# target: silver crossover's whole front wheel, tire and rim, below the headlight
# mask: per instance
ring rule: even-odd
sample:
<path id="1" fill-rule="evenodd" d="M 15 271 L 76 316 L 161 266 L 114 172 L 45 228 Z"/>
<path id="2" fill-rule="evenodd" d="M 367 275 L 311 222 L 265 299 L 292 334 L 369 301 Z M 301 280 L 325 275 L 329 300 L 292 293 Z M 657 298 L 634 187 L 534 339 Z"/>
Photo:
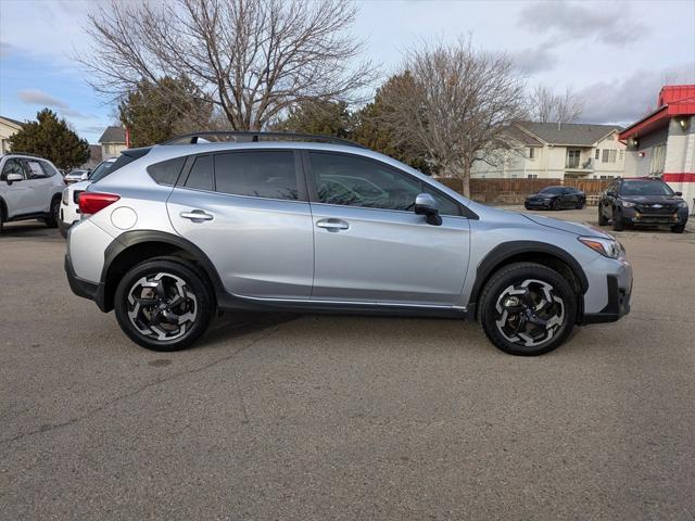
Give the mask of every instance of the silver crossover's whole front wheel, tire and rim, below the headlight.
<path id="1" fill-rule="evenodd" d="M 577 295 L 565 277 L 534 263 L 503 267 L 485 284 L 480 322 L 510 355 L 542 355 L 559 346 L 577 318 Z"/>

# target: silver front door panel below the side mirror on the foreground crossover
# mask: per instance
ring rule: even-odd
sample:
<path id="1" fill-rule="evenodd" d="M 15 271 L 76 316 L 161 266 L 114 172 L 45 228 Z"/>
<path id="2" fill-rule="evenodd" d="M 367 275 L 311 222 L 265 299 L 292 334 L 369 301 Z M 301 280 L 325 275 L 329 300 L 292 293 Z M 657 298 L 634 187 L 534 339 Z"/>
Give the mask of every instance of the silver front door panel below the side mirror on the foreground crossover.
<path id="1" fill-rule="evenodd" d="M 312 204 L 313 300 L 454 305 L 468 266 L 469 225 L 410 212 Z M 343 226 L 324 228 L 320 223 Z"/>

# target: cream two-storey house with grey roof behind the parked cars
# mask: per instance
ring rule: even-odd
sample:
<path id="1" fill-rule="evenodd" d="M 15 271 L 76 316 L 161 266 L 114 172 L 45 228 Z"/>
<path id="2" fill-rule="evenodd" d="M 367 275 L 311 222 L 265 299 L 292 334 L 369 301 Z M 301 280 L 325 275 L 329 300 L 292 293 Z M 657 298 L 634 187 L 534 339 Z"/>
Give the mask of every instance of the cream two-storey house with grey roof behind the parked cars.
<path id="1" fill-rule="evenodd" d="M 509 127 L 516 150 L 502 161 L 478 161 L 472 177 L 611 179 L 624 173 L 621 127 L 584 123 L 520 122 Z"/>

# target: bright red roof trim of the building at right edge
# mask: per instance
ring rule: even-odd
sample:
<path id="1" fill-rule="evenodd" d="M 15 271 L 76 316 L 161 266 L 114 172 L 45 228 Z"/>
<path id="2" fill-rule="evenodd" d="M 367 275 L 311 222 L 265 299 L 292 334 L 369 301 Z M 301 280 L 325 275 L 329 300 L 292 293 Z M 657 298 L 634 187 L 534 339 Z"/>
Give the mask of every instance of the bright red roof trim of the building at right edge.
<path id="1" fill-rule="evenodd" d="M 620 140 L 636 138 L 668 126 L 675 116 L 695 115 L 695 85 L 667 85 L 661 88 L 659 107 L 620 132 Z"/>

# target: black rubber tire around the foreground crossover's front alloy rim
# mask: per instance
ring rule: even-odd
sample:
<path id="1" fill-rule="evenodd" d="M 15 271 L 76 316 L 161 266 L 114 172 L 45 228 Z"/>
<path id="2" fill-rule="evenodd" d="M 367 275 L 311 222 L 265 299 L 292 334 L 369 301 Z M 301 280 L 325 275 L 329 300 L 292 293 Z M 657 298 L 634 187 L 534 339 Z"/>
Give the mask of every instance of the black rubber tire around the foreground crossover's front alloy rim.
<path id="1" fill-rule="evenodd" d="M 500 300 L 504 297 L 509 287 L 518 288 L 528 281 L 540 281 L 547 284 L 551 288 L 548 291 L 553 300 L 560 298 L 559 303 L 552 303 L 551 309 L 553 306 L 556 309 L 553 315 L 555 318 L 547 317 L 548 321 L 553 319 L 556 323 L 553 325 L 552 331 L 546 328 L 546 339 L 543 340 L 539 336 L 534 345 L 523 345 L 527 341 L 520 338 L 514 341 L 516 333 L 509 336 L 503 332 L 505 327 L 498 325 L 498 320 L 504 319 L 504 316 L 498 317 L 497 304 Z M 531 288 L 531 285 L 527 287 L 527 289 Z M 523 300 L 523 297 L 519 298 Z M 556 317 L 560 309 L 561 315 Z M 533 313 L 531 314 L 533 315 Z M 510 313 L 508 316 L 511 315 Z M 533 317 L 538 319 L 540 314 L 533 315 Z M 502 267 L 485 283 L 480 297 L 479 319 L 485 335 L 498 350 L 517 356 L 543 355 L 558 347 L 571 333 L 577 319 L 577 295 L 567 279 L 557 271 L 535 263 L 514 263 Z M 526 319 L 525 323 L 527 323 Z M 526 330 L 522 334 L 527 334 Z"/>

